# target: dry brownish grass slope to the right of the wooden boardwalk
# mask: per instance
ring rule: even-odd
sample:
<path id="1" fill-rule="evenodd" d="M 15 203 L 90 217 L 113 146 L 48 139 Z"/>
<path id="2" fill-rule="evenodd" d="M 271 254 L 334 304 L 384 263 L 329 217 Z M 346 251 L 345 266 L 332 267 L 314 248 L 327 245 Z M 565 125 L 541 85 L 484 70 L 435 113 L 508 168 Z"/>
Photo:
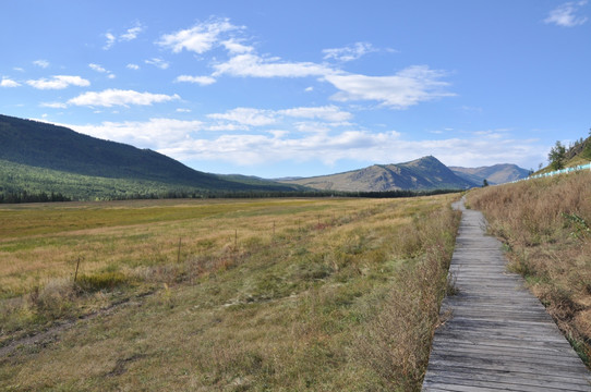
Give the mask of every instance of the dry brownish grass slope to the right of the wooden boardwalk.
<path id="1" fill-rule="evenodd" d="M 591 173 L 478 189 L 471 207 L 506 244 L 523 274 L 581 358 L 591 358 Z"/>

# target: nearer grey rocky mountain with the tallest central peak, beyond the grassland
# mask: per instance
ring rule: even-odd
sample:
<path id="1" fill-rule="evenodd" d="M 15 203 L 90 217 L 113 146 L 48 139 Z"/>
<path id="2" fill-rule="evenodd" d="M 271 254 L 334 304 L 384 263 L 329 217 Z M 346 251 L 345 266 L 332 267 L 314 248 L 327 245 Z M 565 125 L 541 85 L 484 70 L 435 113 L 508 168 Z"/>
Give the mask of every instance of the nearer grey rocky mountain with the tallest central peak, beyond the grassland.
<path id="1" fill-rule="evenodd" d="M 398 164 L 374 164 L 345 173 L 281 182 L 316 189 L 348 192 L 458 189 L 477 185 L 457 176 L 434 157 L 423 157 Z"/>

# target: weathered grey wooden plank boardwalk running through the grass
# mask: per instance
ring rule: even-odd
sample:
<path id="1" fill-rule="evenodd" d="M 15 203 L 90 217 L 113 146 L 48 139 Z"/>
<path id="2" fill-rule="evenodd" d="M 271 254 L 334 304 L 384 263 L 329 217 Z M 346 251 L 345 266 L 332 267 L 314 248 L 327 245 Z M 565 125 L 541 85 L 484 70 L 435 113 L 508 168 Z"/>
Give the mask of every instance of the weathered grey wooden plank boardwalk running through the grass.
<path id="1" fill-rule="evenodd" d="M 521 277 L 508 273 L 485 220 L 466 210 L 450 271 L 458 294 L 437 329 L 423 391 L 591 391 L 591 372 Z"/>

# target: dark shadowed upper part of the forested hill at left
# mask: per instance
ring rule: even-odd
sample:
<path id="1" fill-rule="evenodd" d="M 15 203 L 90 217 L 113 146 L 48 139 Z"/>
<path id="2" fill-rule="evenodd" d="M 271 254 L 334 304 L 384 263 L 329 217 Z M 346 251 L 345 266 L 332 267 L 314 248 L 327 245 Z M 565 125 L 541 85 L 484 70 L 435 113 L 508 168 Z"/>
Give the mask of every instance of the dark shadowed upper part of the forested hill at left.
<path id="1" fill-rule="evenodd" d="M 170 189 L 179 186 L 207 191 L 292 189 L 273 182 L 245 184 L 220 179 L 149 149 L 8 115 L 0 115 L 0 160 L 68 174 L 156 182 L 170 185 Z"/>

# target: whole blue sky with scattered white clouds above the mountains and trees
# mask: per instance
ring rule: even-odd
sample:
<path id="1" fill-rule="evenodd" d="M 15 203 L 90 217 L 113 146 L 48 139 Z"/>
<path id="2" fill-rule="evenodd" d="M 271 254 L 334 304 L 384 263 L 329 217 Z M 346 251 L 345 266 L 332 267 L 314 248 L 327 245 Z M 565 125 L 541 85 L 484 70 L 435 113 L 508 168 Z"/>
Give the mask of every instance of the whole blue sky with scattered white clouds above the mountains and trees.
<path id="1" fill-rule="evenodd" d="M 589 0 L 3 1 L 0 113 L 206 172 L 546 163 L 591 126 Z"/>

